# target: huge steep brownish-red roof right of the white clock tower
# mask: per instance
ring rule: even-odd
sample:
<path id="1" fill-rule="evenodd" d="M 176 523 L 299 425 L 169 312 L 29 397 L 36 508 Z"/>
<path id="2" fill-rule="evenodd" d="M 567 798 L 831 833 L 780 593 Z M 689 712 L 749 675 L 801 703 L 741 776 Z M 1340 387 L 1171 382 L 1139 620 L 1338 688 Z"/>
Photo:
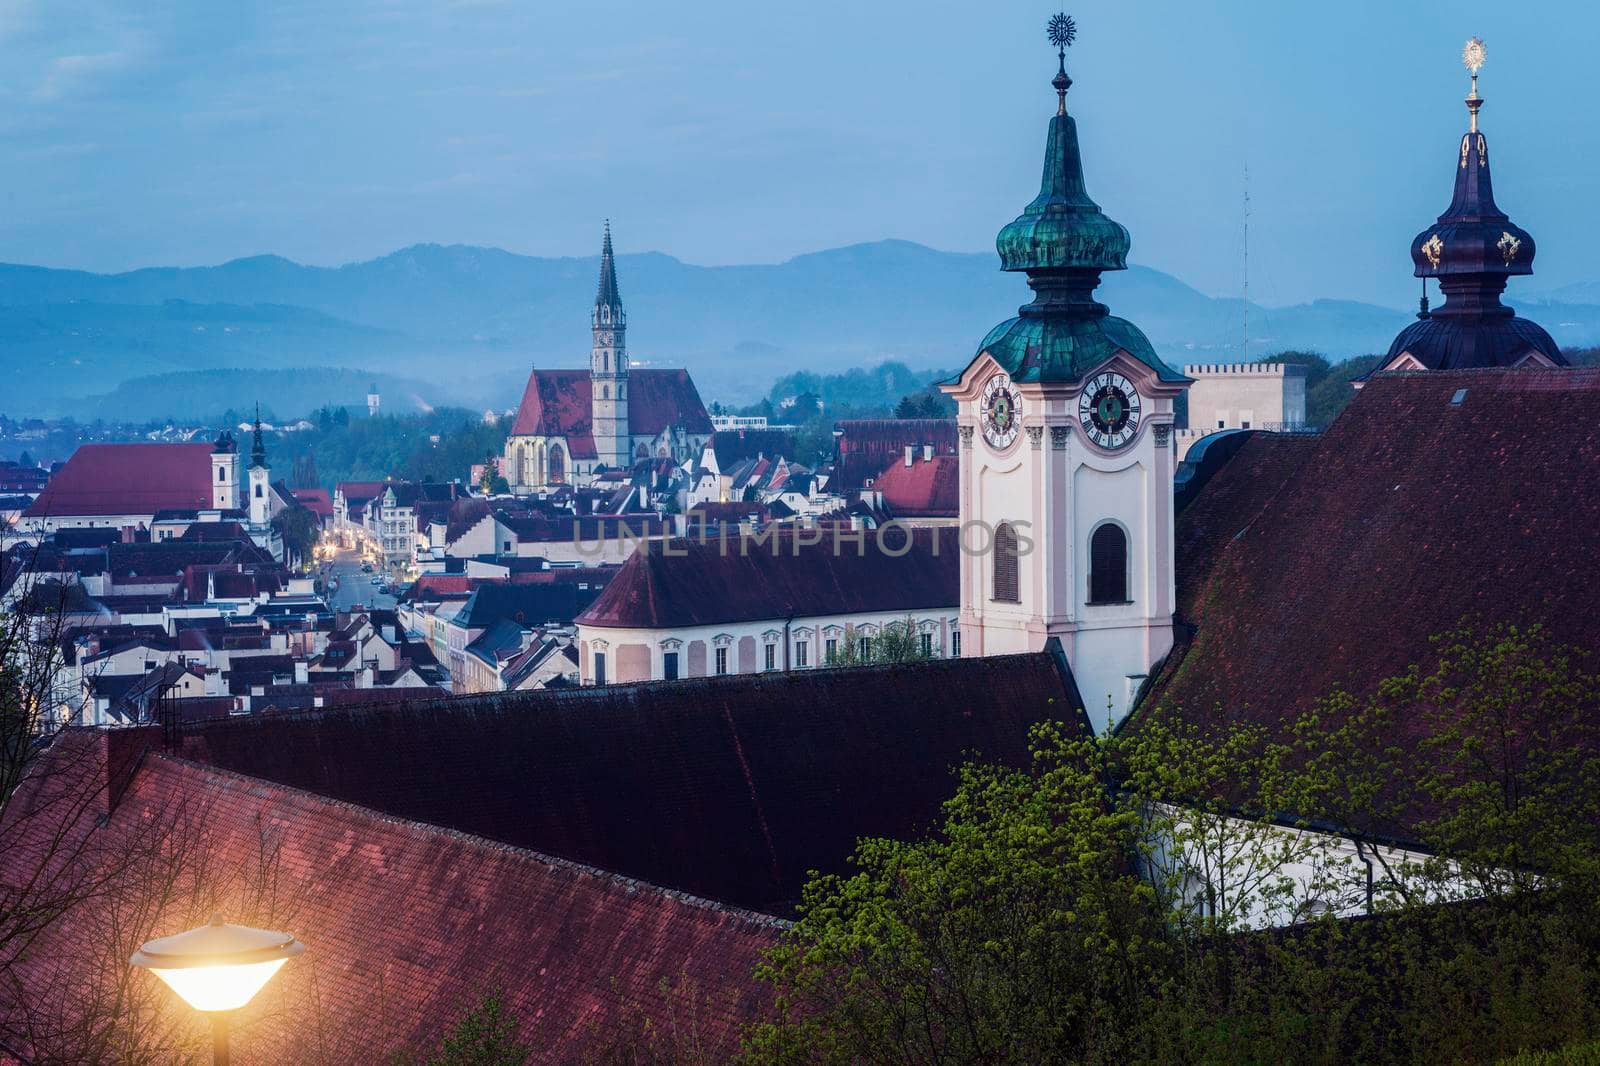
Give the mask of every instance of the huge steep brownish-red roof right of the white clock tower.
<path id="1" fill-rule="evenodd" d="M 1278 723 L 1462 621 L 1600 647 L 1595 426 L 1600 370 L 1418 371 L 1374 376 L 1314 442 L 1246 443 L 1179 520 L 1195 629 L 1154 699 Z"/>

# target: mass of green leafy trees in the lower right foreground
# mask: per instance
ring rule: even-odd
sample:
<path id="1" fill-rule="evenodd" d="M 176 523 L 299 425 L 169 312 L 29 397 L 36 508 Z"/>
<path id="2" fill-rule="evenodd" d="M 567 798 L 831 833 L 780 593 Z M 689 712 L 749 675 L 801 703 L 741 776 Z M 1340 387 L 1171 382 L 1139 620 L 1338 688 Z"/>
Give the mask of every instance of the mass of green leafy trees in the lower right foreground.
<path id="1" fill-rule="evenodd" d="M 1581 653 L 1461 629 L 1272 730 L 1139 714 L 1038 727 L 1026 767 L 960 770 L 939 832 L 816 877 L 747 1061 L 1498 1061 L 1600 1034 Z M 1374 840 L 1395 826 L 1418 847 Z"/>

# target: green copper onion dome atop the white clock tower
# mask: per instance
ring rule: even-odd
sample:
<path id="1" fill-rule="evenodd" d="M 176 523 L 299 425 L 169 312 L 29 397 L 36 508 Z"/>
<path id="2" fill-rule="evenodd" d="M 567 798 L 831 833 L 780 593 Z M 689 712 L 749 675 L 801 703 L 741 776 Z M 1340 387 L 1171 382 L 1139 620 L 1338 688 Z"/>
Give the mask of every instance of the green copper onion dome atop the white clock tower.
<path id="1" fill-rule="evenodd" d="M 990 330 L 978 354 L 987 352 L 1013 381 L 1080 381 L 1118 351 L 1162 381 L 1187 381 L 1162 362 L 1136 325 L 1094 301 L 1101 271 L 1128 269 L 1128 230 L 1101 211 L 1083 184 L 1064 56 L 1053 85 L 1059 104 L 1045 141 L 1038 195 L 995 238 L 1000 269 L 1026 272 L 1035 298 L 1016 319 Z"/>

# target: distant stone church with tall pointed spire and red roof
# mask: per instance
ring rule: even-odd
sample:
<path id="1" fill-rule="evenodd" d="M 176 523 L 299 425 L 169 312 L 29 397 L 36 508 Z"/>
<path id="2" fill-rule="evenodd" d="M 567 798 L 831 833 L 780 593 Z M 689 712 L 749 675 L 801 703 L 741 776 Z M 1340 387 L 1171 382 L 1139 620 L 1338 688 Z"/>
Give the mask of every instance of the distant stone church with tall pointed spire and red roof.
<path id="1" fill-rule="evenodd" d="M 616 287 L 611 224 L 600 250 L 590 314 L 589 370 L 534 370 L 506 439 L 504 474 L 515 493 L 581 485 L 600 467 L 699 455 L 710 416 L 686 370 L 634 370 L 627 312 Z"/>

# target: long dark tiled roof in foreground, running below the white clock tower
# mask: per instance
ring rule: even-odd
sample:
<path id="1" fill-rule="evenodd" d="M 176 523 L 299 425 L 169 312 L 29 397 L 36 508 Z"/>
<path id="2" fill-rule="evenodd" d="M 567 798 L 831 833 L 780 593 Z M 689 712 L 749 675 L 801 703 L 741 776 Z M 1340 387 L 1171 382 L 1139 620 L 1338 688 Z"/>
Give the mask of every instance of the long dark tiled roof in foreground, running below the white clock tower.
<path id="1" fill-rule="evenodd" d="M 858 837 L 931 824 L 968 752 L 1022 763 L 1032 723 L 1077 720 L 1074 693 L 1048 653 L 934 659 L 240 717 L 184 751 L 786 912 Z"/>

